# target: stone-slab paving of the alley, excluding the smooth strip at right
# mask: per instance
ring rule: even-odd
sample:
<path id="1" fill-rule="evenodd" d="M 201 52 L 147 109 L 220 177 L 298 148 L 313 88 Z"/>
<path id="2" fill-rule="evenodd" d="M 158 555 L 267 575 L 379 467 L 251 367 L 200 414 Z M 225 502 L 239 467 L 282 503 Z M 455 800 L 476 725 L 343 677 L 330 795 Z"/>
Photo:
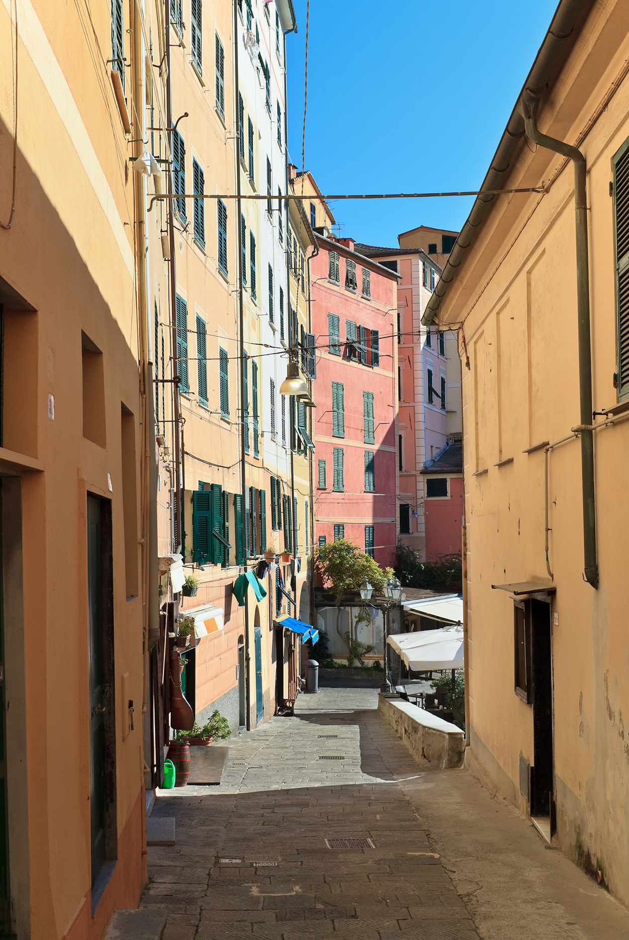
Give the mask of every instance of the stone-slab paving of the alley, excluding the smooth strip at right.
<path id="1" fill-rule="evenodd" d="M 176 817 L 176 846 L 149 848 L 141 906 L 165 906 L 164 940 L 478 938 L 376 703 L 373 689 L 299 696 L 295 717 L 229 742 L 220 787 L 161 791 L 153 815 Z"/>

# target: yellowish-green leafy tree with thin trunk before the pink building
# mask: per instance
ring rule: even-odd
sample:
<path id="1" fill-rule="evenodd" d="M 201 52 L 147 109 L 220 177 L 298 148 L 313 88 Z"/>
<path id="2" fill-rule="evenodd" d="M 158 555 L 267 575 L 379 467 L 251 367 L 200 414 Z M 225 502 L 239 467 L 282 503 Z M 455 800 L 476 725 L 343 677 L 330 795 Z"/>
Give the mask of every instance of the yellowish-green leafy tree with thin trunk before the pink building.
<path id="1" fill-rule="evenodd" d="M 321 575 L 323 586 L 334 595 L 336 632 L 345 643 L 347 652 L 352 655 L 351 638 L 348 639 L 339 630 L 343 595 L 358 594 L 365 579 L 376 594 L 381 594 L 393 569 L 385 568 L 383 571 L 372 556 L 363 552 L 353 541 L 338 539 L 317 546 L 316 570 Z"/>

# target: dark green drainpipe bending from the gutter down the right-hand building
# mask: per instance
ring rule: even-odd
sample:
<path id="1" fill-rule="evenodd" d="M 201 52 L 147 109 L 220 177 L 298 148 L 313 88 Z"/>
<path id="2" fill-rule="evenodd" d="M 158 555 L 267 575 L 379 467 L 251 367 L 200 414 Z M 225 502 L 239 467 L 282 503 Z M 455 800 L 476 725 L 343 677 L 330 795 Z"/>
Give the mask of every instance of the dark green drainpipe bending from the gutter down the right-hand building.
<path id="1" fill-rule="evenodd" d="M 521 110 L 530 140 L 540 147 L 560 153 L 575 164 L 576 222 L 576 312 L 578 328 L 578 365 L 581 424 L 591 425 L 591 337 L 590 337 L 590 271 L 588 262 L 588 199 L 587 167 L 580 150 L 537 128 L 539 99 L 529 94 Z M 594 440 L 591 431 L 581 432 L 581 479 L 583 487 L 583 555 L 585 580 L 598 588 L 596 561 L 596 518 L 594 504 Z M 546 524 L 547 525 L 547 524 Z"/>

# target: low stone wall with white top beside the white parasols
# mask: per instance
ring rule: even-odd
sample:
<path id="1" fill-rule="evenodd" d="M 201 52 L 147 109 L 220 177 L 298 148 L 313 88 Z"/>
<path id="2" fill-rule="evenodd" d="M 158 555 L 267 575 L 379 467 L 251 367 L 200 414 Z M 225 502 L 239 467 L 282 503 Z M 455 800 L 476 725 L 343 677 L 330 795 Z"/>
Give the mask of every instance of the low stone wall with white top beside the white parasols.
<path id="1" fill-rule="evenodd" d="M 463 766 L 465 734 L 456 725 L 403 698 L 378 696 L 377 707 L 420 767 L 445 770 Z"/>

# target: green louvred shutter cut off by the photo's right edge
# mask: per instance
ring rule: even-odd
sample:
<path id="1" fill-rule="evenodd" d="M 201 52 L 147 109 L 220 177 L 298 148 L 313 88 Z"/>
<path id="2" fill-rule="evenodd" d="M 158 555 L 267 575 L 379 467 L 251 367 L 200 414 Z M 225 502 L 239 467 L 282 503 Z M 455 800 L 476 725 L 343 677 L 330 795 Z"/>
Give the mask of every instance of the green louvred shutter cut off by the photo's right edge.
<path id="1" fill-rule="evenodd" d="M 621 401 L 629 396 L 629 139 L 614 156 L 613 173 L 618 368 L 615 380 Z"/>

